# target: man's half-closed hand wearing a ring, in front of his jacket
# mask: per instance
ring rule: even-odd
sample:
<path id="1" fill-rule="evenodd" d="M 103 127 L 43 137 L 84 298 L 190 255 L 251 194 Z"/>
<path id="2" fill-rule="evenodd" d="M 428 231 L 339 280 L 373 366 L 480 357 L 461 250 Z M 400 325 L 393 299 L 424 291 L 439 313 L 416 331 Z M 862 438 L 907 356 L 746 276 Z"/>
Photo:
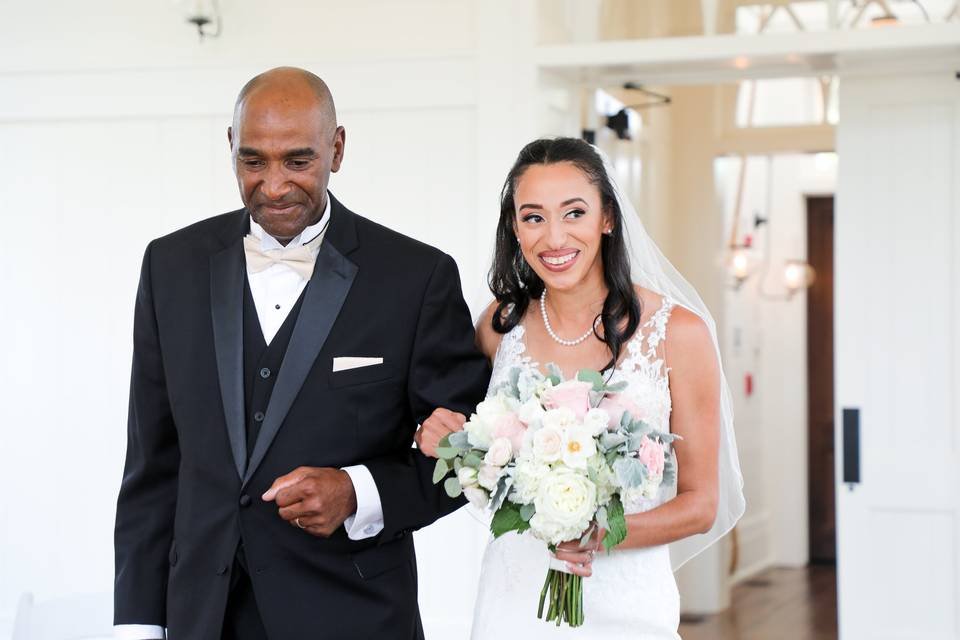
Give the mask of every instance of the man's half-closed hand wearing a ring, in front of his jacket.
<path id="1" fill-rule="evenodd" d="M 263 494 L 276 501 L 280 517 L 309 534 L 328 538 L 356 513 L 357 494 L 346 471 L 299 467 L 273 481 Z"/>

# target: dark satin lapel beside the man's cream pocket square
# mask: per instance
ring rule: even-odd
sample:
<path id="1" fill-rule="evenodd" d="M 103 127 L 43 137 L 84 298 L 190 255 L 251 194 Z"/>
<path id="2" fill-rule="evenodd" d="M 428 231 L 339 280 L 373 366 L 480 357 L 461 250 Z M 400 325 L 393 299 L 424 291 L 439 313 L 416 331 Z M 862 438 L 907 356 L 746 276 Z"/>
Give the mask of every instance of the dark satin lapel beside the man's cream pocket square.
<path id="1" fill-rule="evenodd" d="M 247 465 L 243 478 L 244 486 L 263 462 L 263 457 L 277 436 L 293 401 L 300 393 L 300 388 L 303 387 L 313 363 L 327 341 L 327 336 L 330 335 L 333 323 L 340 315 L 340 309 L 356 275 L 357 266 L 344 258 L 333 245 L 329 242 L 320 245 L 313 277 L 304 291 L 300 315 L 293 326 L 293 334 L 270 395 L 267 415 L 263 419 L 260 435 L 257 436 L 253 455 L 250 456 L 250 464 Z"/>

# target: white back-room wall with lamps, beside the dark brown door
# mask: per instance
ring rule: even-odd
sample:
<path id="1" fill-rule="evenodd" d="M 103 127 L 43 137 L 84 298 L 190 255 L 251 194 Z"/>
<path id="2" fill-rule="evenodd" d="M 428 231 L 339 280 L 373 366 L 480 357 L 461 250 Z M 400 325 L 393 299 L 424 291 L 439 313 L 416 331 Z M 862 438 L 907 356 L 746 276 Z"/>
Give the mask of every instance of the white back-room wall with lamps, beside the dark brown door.
<path id="1" fill-rule="evenodd" d="M 722 158 L 716 167 L 729 228 L 740 160 Z M 808 561 L 806 295 L 783 299 L 782 271 L 784 261 L 806 258 L 805 196 L 835 188 L 833 154 L 747 161 L 740 228 L 753 233 L 757 255 L 769 252 L 770 266 L 765 278 L 759 268 L 740 290 L 725 295 L 721 340 L 747 497 L 738 525 L 738 578 Z M 767 227 L 753 229 L 755 213 L 769 218 Z M 753 376 L 749 397 L 747 374 Z"/>

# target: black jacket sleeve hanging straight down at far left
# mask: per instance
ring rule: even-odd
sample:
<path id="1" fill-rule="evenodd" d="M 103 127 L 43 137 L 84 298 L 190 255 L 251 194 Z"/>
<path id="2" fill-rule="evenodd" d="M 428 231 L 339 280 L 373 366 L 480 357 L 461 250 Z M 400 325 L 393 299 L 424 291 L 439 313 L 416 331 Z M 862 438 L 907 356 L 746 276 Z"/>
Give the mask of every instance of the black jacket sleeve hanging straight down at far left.
<path id="1" fill-rule="evenodd" d="M 153 305 L 151 246 L 144 255 L 134 311 L 127 457 L 114 530 L 118 625 L 165 625 L 177 500 L 180 450 Z"/>

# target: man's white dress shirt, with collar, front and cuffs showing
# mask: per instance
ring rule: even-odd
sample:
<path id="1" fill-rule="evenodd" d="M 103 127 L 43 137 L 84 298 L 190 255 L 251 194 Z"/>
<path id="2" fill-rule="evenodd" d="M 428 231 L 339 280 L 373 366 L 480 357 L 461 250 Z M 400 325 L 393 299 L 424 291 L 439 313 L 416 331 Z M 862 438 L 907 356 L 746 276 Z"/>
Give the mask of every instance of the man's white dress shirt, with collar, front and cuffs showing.
<path id="1" fill-rule="evenodd" d="M 286 246 L 299 247 L 315 240 L 326 232 L 329 221 L 330 194 L 328 193 L 327 207 L 324 209 L 320 221 L 304 229 Z M 260 248 L 263 251 L 284 247 L 253 219 L 250 220 L 250 233 L 260 239 Z M 320 244 L 317 244 L 313 249 L 314 258 L 317 257 L 319 251 Z M 247 281 L 250 283 L 250 293 L 253 295 L 253 303 L 257 308 L 257 318 L 260 320 L 263 339 L 269 345 L 277 335 L 284 320 L 287 319 L 290 309 L 297 304 L 300 294 L 307 286 L 307 280 L 287 265 L 274 264 L 257 273 L 251 273 L 248 270 Z M 370 471 L 365 465 L 343 467 L 343 470 L 350 476 L 354 492 L 357 494 L 357 512 L 344 521 L 343 527 L 351 540 L 372 538 L 383 530 L 383 507 L 380 504 L 380 492 L 377 490 L 373 476 L 370 475 Z M 116 625 L 113 629 L 114 638 L 119 640 L 163 640 L 166 638 L 166 630 L 156 625 L 121 624 Z"/>

